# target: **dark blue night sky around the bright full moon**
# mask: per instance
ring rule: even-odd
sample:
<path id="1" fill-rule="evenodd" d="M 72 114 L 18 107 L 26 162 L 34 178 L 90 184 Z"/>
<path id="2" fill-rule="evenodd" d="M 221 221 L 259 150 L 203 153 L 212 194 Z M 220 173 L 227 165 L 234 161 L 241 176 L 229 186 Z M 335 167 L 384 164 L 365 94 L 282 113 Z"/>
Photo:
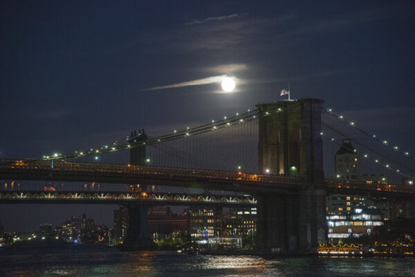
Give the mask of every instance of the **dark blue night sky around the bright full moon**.
<path id="1" fill-rule="evenodd" d="M 205 123 L 288 82 L 415 152 L 415 1 L 1 1 L 0 22 L 0 159 Z M 234 93 L 150 89 L 223 74 Z M 113 208 L 0 205 L 0 220 L 111 226 Z"/>

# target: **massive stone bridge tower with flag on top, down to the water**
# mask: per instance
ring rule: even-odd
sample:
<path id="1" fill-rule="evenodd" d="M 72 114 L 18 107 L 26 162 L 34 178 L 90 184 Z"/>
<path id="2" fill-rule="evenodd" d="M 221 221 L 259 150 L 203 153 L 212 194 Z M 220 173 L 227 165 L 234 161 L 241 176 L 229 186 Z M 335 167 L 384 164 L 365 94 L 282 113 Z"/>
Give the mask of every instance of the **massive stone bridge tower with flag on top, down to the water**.
<path id="1" fill-rule="evenodd" d="M 259 172 L 299 177 L 293 193 L 258 195 L 257 247 L 266 252 L 315 253 L 326 241 L 320 99 L 258 104 Z"/>

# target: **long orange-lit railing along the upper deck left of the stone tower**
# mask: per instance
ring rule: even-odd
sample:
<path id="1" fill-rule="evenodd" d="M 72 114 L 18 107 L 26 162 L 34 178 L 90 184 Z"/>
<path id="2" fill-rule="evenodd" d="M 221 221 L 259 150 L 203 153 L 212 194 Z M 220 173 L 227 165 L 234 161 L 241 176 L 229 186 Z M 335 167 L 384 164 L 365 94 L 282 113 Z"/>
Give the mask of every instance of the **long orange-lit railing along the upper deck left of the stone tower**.
<path id="1" fill-rule="evenodd" d="M 133 166 L 109 163 L 72 163 L 68 161 L 0 160 L 0 170 L 100 172 L 123 175 L 154 175 L 158 177 L 225 179 L 229 181 L 263 182 L 277 184 L 300 184 L 297 177 L 281 175 L 259 175 L 247 172 L 200 170 L 191 168 L 163 168 L 155 166 Z"/>

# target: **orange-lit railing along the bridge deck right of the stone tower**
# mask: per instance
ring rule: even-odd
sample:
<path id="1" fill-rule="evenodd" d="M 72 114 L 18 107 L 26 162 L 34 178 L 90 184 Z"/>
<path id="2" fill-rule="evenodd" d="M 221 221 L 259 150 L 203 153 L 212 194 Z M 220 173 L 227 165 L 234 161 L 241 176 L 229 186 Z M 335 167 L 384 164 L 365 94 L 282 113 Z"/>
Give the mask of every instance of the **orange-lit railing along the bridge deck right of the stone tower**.
<path id="1" fill-rule="evenodd" d="M 325 183 L 331 188 L 355 188 L 355 189 L 367 189 L 378 190 L 394 193 L 414 193 L 414 187 L 408 185 L 396 185 L 396 184 L 369 184 L 365 181 L 340 181 L 333 179 L 326 179 Z"/>

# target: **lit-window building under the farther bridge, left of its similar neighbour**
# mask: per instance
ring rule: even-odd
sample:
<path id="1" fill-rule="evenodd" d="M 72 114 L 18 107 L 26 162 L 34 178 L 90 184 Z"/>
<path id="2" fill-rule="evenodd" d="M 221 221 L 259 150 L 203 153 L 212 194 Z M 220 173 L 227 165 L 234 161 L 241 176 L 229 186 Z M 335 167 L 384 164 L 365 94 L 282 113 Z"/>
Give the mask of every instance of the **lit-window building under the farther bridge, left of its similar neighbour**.
<path id="1" fill-rule="evenodd" d="M 223 235 L 222 208 L 192 207 L 188 211 L 189 231 L 194 239 Z"/>

